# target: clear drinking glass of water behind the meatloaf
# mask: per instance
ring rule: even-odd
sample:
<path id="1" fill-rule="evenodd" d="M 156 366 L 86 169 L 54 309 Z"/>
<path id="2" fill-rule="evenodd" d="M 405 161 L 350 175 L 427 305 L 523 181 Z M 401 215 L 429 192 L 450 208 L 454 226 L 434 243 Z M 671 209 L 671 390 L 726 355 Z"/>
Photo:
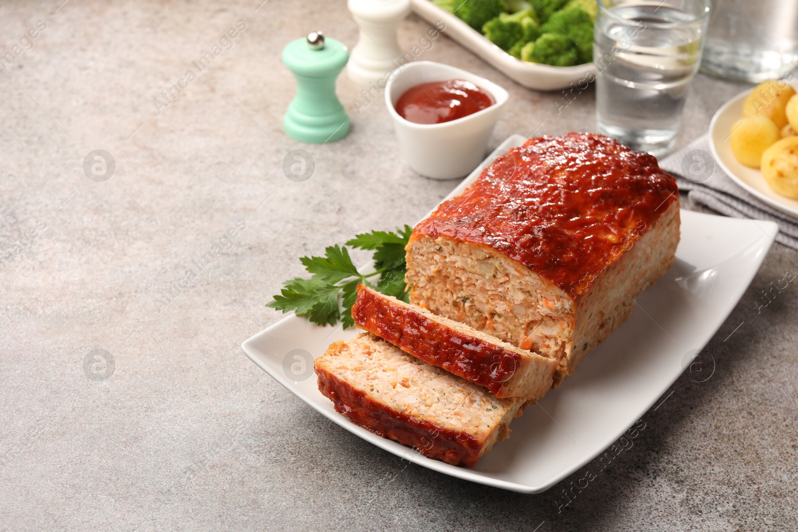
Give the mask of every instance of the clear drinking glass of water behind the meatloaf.
<path id="1" fill-rule="evenodd" d="M 597 0 L 599 132 L 662 156 L 673 148 L 701 63 L 710 0 Z"/>

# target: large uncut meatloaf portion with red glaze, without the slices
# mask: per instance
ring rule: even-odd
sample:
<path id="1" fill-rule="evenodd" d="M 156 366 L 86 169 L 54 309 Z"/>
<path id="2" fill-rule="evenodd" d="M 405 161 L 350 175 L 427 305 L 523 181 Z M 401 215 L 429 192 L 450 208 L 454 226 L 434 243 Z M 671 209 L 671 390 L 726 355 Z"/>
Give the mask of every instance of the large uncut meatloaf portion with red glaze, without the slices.
<path id="1" fill-rule="evenodd" d="M 410 301 L 559 362 L 555 384 L 634 311 L 679 240 L 675 179 L 595 134 L 513 148 L 413 230 Z"/>

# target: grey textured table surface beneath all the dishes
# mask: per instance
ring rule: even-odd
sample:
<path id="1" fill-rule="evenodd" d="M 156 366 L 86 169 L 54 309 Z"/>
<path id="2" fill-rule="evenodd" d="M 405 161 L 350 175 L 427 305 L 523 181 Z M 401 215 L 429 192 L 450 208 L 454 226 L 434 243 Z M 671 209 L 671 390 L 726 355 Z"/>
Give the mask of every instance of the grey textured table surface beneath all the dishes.
<path id="1" fill-rule="evenodd" d="M 61 2 L 0 5 L 0 53 L 14 54 L 0 75 L 0 250 L 11 257 L 0 273 L 0 529 L 798 528 L 794 283 L 757 313 L 760 290 L 798 272 L 798 253 L 772 247 L 707 347 L 712 378 L 681 376 L 634 447 L 570 505 L 559 507 L 575 477 L 518 495 L 402 463 L 239 348 L 280 319 L 263 305 L 301 274 L 298 256 L 413 223 L 455 186 L 409 171 L 384 104 L 355 112 L 360 89 L 346 77 L 349 136 L 310 146 L 283 134 L 294 80 L 282 47 L 317 28 L 354 45 L 346 2 Z M 237 21 L 246 29 L 231 46 L 156 112 L 160 91 Z M 401 45 L 428 28 L 411 15 Z M 562 94 L 523 89 L 446 37 L 419 58 L 508 88 L 513 111 L 492 146 L 535 128 L 595 128 L 592 89 L 558 114 Z M 679 145 L 741 88 L 697 77 Z M 282 172 L 295 148 L 316 162 L 305 183 Z M 83 171 L 95 149 L 116 161 L 102 183 Z M 87 378 L 94 349 L 113 355 L 108 380 Z"/>

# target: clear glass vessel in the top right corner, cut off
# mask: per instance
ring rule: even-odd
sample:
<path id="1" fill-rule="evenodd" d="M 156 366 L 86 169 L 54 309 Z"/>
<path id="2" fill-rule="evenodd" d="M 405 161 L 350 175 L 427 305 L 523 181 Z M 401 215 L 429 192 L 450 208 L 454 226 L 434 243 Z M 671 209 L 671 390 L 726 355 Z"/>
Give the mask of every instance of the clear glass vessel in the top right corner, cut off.
<path id="1" fill-rule="evenodd" d="M 796 0 L 715 0 L 701 72 L 758 83 L 798 65 Z"/>

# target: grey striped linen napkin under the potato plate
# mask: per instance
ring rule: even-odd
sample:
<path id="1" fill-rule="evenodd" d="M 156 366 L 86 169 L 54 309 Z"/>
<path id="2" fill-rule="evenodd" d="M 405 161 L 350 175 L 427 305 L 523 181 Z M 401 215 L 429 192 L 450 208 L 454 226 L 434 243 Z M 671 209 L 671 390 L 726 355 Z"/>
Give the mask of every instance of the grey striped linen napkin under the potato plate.
<path id="1" fill-rule="evenodd" d="M 798 219 L 762 203 L 729 179 L 709 154 L 708 136 L 693 140 L 687 147 L 667 156 L 659 166 L 674 175 L 679 190 L 687 192 L 692 203 L 734 218 L 776 222 L 779 224 L 776 242 L 798 250 Z M 685 175 L 692 179 L 686 179 Z"/>

